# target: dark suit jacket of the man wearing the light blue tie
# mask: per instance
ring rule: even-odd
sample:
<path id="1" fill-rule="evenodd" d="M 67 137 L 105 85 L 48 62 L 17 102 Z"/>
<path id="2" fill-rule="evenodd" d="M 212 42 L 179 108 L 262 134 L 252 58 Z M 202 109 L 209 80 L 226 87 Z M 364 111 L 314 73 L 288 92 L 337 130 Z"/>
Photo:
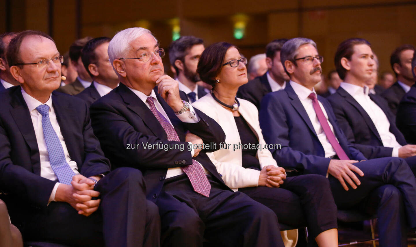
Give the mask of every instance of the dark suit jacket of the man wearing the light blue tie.
<path id="1" fill-rule="evenodd" d="M 30 209 L 47 207 L 56 183 L 40 176 L 35 130 L 20 90 L 20 86 L 15 86 L 0 92 L 0 190 L 8 194 L 2 199 L 12 219 L 22 217 Z M 94 136 L 84 101 L 53 92 L 52 105 L 79 173 L 86 177 L 108 173 L 110 164 Z"/>

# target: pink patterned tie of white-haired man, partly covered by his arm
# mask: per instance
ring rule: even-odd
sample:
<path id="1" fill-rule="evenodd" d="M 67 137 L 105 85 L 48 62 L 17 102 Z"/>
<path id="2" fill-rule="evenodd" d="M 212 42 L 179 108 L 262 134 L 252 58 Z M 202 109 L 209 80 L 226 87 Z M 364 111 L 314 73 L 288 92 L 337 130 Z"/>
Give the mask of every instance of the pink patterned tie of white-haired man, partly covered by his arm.
<path id="1" fill-rule="evenodd" d="M 168 141 L 181 141 L 179 140 L 178 133 L 176 133 L 173 126 L 169 123 L 169 121 L 156 109 L 156 106 L 153 102 L 153 97 L 148 97 L 146 102 L 150 106 L 150 110 L 152 111 L 153 115 L 155 115 L 156 119 L 162 125 L 163 129 L 168 136 Z M 204 170 L 202 169 L 199 163 L 192 159 L 192 165 L 185 165 L 182 166 L 181 169 L 183 172 L 188 176 L 189 180 L 191 181 L 191 185 L 193 190 L 196 193 L 199 193 L 203 196 L 209 197 L 209 193 L 211 190 L 211 184 L 208 181 Z"/>

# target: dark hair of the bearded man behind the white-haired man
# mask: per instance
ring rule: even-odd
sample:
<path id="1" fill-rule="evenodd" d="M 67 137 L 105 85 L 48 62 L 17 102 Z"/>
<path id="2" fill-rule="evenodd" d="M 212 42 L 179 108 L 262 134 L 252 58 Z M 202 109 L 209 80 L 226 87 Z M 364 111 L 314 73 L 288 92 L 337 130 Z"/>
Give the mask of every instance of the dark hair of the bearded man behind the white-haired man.
<path id="1" fill-rule="evenodd" d="M 179 69 L 175 65 L 176 60 L 184 62 L 186 52 L 196 44 L 203 44 L 204 41 L 200 38 L 193 36 L 182 36 L 179 39 L 173 41 L 169 46 L 169 62 L 173 68 L 175 68 L 176 74 L 179 74 Z"/>

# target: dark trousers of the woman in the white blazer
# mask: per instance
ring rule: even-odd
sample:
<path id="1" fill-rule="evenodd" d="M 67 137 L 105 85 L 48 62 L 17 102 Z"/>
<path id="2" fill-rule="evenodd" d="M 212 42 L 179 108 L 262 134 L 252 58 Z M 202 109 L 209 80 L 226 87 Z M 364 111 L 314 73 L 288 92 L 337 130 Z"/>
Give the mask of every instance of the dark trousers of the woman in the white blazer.
<path id="1" fill-rule="evenodd" d="M 337 228 L 337 206 L 328 179 L 308 174 L 286 178 L 280 188 L 240 188 L 253 200 L 269 207 L 280 223 L 308 227 L 312 240 L 319 233 Z"/>

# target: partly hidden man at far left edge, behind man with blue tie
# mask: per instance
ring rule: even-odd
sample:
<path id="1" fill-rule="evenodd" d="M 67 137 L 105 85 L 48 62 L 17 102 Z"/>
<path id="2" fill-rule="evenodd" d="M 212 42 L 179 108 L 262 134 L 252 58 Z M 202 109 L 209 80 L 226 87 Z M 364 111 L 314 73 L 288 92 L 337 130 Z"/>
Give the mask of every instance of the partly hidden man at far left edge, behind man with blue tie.
<path id="1" fill-rule="evenodd" d="M 5 32 L 0 35 L 0 91 L 20 85 L 12 74 L 10 74 L 10 67 L 6 59 L 7 46 L 15 35 L 15 32 Z"/>

